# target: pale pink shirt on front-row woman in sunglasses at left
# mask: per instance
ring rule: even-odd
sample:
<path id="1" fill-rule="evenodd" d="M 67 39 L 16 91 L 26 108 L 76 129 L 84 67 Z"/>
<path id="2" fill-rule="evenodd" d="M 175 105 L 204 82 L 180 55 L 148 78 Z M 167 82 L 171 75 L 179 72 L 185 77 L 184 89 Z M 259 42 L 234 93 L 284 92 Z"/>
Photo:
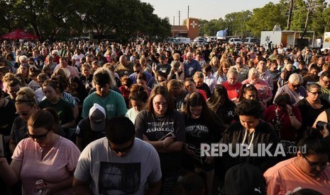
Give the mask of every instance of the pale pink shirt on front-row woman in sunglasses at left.
<path id="1" fill-rule="evenodd" d="M 60 182 L 73 175 L 80 155 L 72 141 L 60 137 L 55 146 L 41 159 L 42 148 L 32 138 L 18 143 L 13 160 L 22 161 L 21 182 L 23 194 L 33 194 L 35 182 Z M 56 194 L 75 194 L 73 189 L 63 189 Z"/>

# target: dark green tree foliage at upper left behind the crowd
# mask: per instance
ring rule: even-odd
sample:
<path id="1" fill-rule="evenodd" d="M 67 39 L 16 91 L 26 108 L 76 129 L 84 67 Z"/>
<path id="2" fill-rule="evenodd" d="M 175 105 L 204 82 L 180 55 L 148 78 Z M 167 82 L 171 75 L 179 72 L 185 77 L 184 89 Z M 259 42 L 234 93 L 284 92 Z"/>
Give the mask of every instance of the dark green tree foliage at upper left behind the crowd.
<path id="1" fill-rule="evenodd" d="M 1 32 L 31 29 L 42 40 L 94 34 L 117 40 L 167 37 L 168 18 L 158 18 L 140 0 L 8 0 L 0 1 Z"/>

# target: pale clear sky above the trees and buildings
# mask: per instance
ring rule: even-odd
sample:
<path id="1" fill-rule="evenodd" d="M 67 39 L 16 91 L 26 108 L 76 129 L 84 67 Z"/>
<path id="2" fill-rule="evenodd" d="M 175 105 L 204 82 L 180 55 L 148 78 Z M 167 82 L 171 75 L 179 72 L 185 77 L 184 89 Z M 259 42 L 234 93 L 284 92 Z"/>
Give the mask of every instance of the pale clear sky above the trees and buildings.
<path id="1" fill-rule="evenodd" d="M 190 18 L 202 18 L 204 20 L 224 18 L 227 13 L 250 10 L 253 8 L 261 8 L 273 2 L 277 4 L 280 0 L 141 0 L 149 3 L 155 8 L 153 13 L 160 18 L 168 17 L 170 24 L 173 25 L 173 18 L 175 16 L 175 25 L 179 25 L 179 11 L 180 23 L 188 16 Z M 326 0 L 330 3 L 330 0 Z"/>

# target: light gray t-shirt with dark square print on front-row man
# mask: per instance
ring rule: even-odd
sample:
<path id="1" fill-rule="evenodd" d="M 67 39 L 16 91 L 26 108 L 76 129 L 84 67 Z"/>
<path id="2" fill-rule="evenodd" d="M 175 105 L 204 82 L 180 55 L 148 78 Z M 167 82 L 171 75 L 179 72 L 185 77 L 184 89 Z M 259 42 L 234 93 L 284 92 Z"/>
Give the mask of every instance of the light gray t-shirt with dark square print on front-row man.
<path id="1" fill-rule="evenodd" d="M 109 147 L 107 138 L 89 143 L 82 151 L 75 178 L 89 182 L 93 194 L 145 194 L 145 185 L 160 181 L 158 153 L 149 143 L 134 139 L 122 158 Z"/>

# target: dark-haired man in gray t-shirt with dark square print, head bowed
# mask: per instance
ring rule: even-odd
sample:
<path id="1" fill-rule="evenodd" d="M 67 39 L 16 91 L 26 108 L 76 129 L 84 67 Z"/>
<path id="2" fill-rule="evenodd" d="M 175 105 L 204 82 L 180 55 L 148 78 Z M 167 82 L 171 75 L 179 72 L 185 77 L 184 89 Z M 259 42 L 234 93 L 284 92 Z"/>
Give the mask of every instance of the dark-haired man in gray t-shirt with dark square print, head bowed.
<path id="1" fill-rule="evenodd" d="M 130 119 L 114 117 L 106 126 L 106 138 L 82 151 L 73 187 L 76 194 L 159 194 L 161 177 L 155 148 L 135 138 Z"/>

